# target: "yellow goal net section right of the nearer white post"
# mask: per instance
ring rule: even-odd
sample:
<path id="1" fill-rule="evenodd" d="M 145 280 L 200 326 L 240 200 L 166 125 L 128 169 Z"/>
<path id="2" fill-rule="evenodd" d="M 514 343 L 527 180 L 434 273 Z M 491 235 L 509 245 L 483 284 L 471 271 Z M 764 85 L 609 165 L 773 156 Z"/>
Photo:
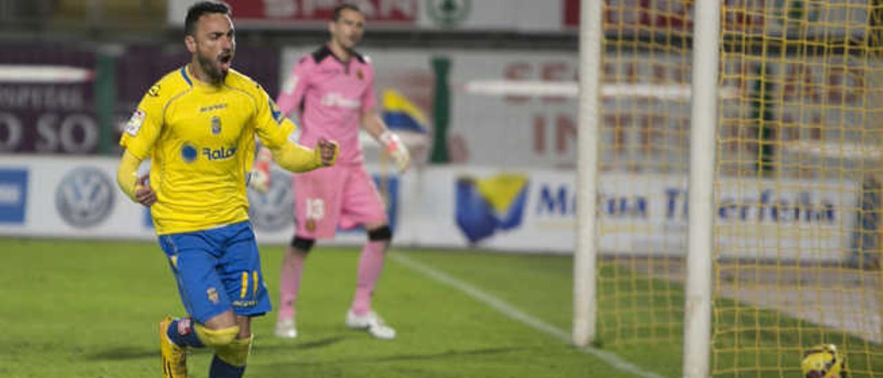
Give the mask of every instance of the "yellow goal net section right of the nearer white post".
<path id="1" fill-rule="evenodd" d="M 712 374 L 797 375 L 823 343 L 852 376 L 883 374 L 881 11 L 722 7 L 720 84 L 738 95 L 719 106 Z"/>

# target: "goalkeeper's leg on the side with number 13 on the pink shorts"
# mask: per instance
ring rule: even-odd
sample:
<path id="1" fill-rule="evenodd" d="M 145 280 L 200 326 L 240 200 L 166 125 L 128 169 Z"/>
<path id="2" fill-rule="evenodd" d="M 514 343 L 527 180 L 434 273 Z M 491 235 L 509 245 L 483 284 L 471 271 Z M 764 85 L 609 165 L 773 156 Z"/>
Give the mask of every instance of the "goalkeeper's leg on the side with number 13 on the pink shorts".
<path id="1" fill-rule="evenodd" d="M 316 238 L 333 238 L 343 191 L 342 173 L 337 167 L 313 170 L 294 177 L 295 236 L 283 255 L 279 279 L 279 313 L 275 335 L 296 337 L 296 303 L 307 253 Z"/>

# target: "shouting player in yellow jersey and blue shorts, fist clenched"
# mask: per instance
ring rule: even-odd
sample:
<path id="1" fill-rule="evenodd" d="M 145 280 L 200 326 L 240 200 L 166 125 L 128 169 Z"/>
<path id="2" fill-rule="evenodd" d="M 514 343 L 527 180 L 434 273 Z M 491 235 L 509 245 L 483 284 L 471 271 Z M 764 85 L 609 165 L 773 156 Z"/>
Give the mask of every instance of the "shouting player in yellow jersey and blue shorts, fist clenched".
<path id="1" fill-rule="evenodd" d="M 150 207 L 188 317 L 160 322 L 162 372 L 185 377 L 186 349 L 211 347 L 210 377 L 240 377 L 252 345 L 251 317 L 271 306 L 245 185 L 255 137 L 286 170 L 336 162 L 337 145 L 289 140 L 295 126 L 252 79 L 230 68 L 236 49 L 230 7 L 193 4 L 185 19 L 189 64 L 147 91 L 126 125 L 117 182 Z M 149 180 L 138 178 L 149 157 Z"/>

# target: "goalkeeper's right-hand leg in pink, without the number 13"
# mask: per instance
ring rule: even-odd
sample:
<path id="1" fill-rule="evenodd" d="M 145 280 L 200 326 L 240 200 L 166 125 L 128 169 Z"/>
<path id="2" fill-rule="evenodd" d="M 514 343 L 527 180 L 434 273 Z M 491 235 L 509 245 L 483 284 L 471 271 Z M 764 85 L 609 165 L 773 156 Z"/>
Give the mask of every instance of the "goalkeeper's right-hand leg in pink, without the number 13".
<path id="1" fill-rule="evenodd" d="M 344 193 L 341 224 L 344 228 L 351 224 L 362 224 L 367 231 L 367 240 L 358 257 L 356 293 L 346 323 L 353 329 L 367 329 L 372 336 L 391 339 L 396 336 L 396 331 L 383 324 L 381 318 L 371 310 L 371 299 L 383 270 L 392 231 L 374 180 L 362 167 L 351 170 Z"/>

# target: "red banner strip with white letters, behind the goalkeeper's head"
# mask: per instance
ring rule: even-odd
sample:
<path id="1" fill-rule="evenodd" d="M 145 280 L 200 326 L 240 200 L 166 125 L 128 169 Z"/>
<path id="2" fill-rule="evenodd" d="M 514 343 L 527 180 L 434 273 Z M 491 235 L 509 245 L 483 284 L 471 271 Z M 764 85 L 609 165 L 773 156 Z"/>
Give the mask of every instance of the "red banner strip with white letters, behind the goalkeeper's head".
<path id="1" fill-rule="evenodd" d="M 331 19 L 334 8 L 344 0 L 228 0 L 238 25 L 316 26 Z M 362 0 L 358 7 L 373 25 L 412 26 L 419 15 L 418 0 Z"/>

